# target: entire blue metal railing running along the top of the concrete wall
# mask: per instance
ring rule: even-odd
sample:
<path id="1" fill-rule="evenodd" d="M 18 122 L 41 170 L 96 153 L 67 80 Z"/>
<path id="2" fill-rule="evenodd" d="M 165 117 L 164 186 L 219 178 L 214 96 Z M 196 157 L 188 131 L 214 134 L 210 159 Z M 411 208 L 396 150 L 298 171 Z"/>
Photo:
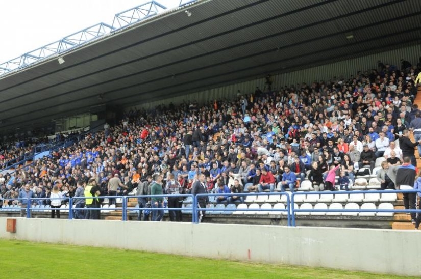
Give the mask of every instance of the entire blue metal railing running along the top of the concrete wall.
<path id="1" fill-rule="evenodd" d="M 71 220 L 73 219 L 73 210 L 103 210 L 103 208 L 101 207 L 84 207 L 84 208 L 73 208 L 73 203 L 75 203 L 75 200 L 77 199 L 121 199 L 122 200 L 122 206 L 121 207 L 116 207 L 116 208 L 112 208 L 112 210 L 122 210 L 122 221 L 127 221 L 127 212 L 130 211 L 143 211 L 143 210 L 169 210 L 169 211 L 191 211 L 192 213 L 192 222 L 193 223 L 197 223 L 199 222 L 199 218 L 197 218 L 197 215 L 199 214 L 199 211 L 220 211 L 220 209 L 217 208 L 201 208 L 198 206 L 198 201 L 199 198 L 203 197 L 203 198 L 209 198 L 209 197 L 219 197 L 219 196 L 224 196 L 224 197 L 232 197 L 232 196 L 237 196 L 237 197 L 247 197 L 247 196 L 271 196 L 271 195 L 277 195 L 277 196 L 286 196 L 286 208 L 282 209 L 282 208 L 224 208 L 224 211 L 254 211 L 254 212 L 259 212 L 259 211 L 263 211 L 263 212 L 273 212 L 273 211 L 278 211 L 278 212 L 286 212 L 286 216 L 287 216 L 287 226 L 293 226 L 295 227 L 295 214 L 296 212 L 357 212 L 357 213 L 362 213 L 362 212 L 370 212 L 370 213 L 421 213 L 421 209 L 295 209 L 294 208 L 294 201 L 295 201 L 295 197 L 298 195 L 324 195 L 324 194 L 375 194 L 375 193 L 379 193 L 379 194 L 390 194 L 390 193 L 421 193 L 421 190 L 354 190 L 354 191 L 321 191 L 321 192 L 316 192 L 316 191 L 309 191 L 309 192 L 305 192 L 305 191 L 299 191 L 299 192 L 293 192 L 292 194 L 290 192 L 261 192 L 261 193 L 211 193 L 211 194 L 196 194 L 196 196 L 193 196 L 192 194 L 161 194 L 161 195 L 144 195 L 144 196 L 99 196 L 99 197 L 77 197 L 77 198 L 68 198 L 68 197 L 63 197 L 63 198 L 13 198 L 13 199 L 7 199 L 7 198 L 3 198 L 0 199 L 0 201 L 4 202 L 4 201 L 18 201 L 19 204 L 21 204 L 22 201 L 26 201 L 27 203 L 25 204 L 24 207 L 10 207 L 7 210 L 4 209 L 0 209 L 0 211 L 19 211 L 19 210 L 26 210 L 27 212 L 27 218 L 31 218 L 31 211 L 37 211 L 39 210 L 38 208 L 35 207 L 31 207 L 31 205 L 33 204 L 33 202 L 37 202 L 37 201 L 47 201 L 47 200 L 65 200 L 68 201 L 69 203 L 69 207 L 68 208 L 54 208 L 54 210 L 68 210 L 69 211 L 69 216 L 68 218 Z M 168 198 L 168 197 L 183 197 L 183 198 L 191 198 L 192 201 L 192 207 L 191 208 L 167 208 L 167 207 L 156 207 L 156 208 L 148 208 L 148 207 L 142 207 L 142 208 L 129 208 L 127 206 L 128 203 L 128 199 L 130 198 Z M 303 201 L 303 200 L 301 200 Z M 362 200 L 361 200 L 362 202 Z M 24 204 L 24 203 L 23 203 Z M 50 209 L 50 208 L 48 208 Z M 44 209 L 45 210 L 45 209 Z M 51 209 L 53 210 L 53 209 Z"/>

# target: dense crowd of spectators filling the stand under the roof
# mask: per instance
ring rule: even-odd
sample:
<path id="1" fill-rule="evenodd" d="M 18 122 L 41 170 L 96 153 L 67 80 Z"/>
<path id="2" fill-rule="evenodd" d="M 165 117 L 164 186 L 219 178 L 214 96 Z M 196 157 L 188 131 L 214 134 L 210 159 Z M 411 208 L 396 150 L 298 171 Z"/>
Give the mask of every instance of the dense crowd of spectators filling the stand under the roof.
<path id="1" fill-rule="evenodd" d="M 119 125 L 106 124 L 26 170 L 0 175 L 0 194 L 49 198 L 54 191 L 55 197 L 60 192 L 65 198 L 84 187 L 77 197 L 115 196 L 151 189 L 160 193 L 157 185 L 164 193 L 189 193 L 202 174 L 207 191 L 221 194 L 294 191 L 307 179 L 320 191 L 348 189 L 357 172 L 373 170 L 379 157 L 386 159 L 381 187 L 394 188 L 388 168 L 400 165 L 405 156 L 415 164 L 414 147 L 421 142 L 421 111 L 413 104 L 421 65 L 407 66 L 379 63 L 378 69 L 349 78 L 269 92 L 256 88 L 203 106 L 184 101 L 153 111 L 132 110 Z M 408 129 L 413 129 L 415 143 Z M 92 201 L 91 207 L 100 202 Z M 220 196 L 217 201 L 242 198 Z M 156 199 L 152 206 L 163 202 Z M 180 199 L 168 202 L 181 206 Z M 78 203 L 83 206 L 82 199 Z M 146 203 L 139 199 L 139 205 Z M 158 211 L 152 215 L 154 220 L 162 217 Z M 172 219 L 181 216 L 174 213 Z"/>

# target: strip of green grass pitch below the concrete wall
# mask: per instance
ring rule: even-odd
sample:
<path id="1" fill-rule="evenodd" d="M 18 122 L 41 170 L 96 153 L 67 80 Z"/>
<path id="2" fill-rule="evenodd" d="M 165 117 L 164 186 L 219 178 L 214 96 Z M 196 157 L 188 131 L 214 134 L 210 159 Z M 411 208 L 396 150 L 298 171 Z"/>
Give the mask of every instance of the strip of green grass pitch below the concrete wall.
<path id="1" fill-rule="evenodd" d="M 0 240 L 1 278 L 398 278 L 365 272 L 254 264 Z M 402 277 L 399 277 L 402 278 Z"/>

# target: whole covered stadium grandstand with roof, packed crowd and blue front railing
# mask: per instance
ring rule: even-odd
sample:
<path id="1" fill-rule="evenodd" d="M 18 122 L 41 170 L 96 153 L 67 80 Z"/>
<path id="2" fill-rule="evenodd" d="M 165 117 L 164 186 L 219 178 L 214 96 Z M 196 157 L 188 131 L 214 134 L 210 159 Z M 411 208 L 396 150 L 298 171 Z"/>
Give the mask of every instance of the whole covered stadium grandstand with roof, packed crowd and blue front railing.
<path id="1" fill-rule="evenodd" d="M 0 216 L 418 229 L 420 12 L 151 1 L 0 64 Z"/>

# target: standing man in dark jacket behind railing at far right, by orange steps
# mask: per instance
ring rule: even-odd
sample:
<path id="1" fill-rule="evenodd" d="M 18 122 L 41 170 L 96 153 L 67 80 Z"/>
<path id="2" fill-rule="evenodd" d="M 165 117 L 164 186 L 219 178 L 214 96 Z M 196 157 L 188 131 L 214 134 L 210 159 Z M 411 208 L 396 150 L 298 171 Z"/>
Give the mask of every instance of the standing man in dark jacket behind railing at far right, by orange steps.
<path id="1" fill-rule="evenodd" d="M 405 188 L 413 188 L 415 183 L 416 170 L 415 166 L 411 164 L 411 159 L 407 156 L 404 157 L 404 163 L 399 167 L 396 174 L 396 187 L 406 185 Z M 408 187 L 409 186 L 409 187 Z M 404 206 L 405 209 L 415 209 L 416 193 L 404 193 Z M 415 224 L 415 213 L 411 212 L 411 219 Z"/>

